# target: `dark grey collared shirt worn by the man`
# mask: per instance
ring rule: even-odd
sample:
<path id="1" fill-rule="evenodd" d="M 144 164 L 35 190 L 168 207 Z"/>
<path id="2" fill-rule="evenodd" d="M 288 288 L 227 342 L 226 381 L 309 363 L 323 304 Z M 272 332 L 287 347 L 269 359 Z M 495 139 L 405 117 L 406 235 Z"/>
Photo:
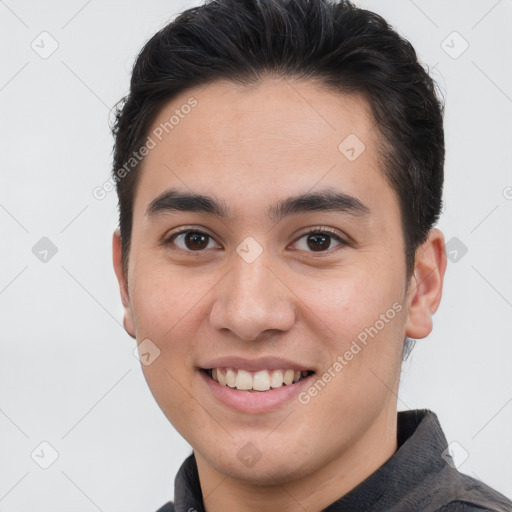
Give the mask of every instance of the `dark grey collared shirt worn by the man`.
<path id="1" fill-rule="evenodd" d="M 434 412 L 398 412 L 397 442 L 392 457 L 324 512 L 512 512 L 512 501 L 453 467 Z M 157 512 L 205 512 L 193 453 L 174 488 L 174 502 Z"/>

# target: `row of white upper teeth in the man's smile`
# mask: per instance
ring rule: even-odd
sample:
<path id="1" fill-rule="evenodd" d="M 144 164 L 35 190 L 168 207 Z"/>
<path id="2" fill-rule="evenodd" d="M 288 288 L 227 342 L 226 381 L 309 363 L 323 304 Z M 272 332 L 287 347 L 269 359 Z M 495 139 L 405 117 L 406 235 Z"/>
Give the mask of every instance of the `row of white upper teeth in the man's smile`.
<path id="1" fill-rule="evenodd" d="M 230 388 L 256 391 L 267 391 L 278 388 L 284 384 L 290 385 L 308 375 L 307 371 L 300 370 L 260 370 L 248 372 L 236 368 L 213 368 L 210 373 L 213 380 L 222 386 Z"/>

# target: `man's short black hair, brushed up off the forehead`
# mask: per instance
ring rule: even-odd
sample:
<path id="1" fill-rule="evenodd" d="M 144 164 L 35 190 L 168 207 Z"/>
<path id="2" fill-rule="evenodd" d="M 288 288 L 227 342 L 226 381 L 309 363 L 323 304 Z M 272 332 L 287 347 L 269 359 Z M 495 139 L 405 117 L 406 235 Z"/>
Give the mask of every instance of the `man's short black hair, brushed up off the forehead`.
<path id="1" fill-rule="evenodd" d="M 126 163 L 159 110 L 195 86 L 220 79 L 249 85 L 269 75 L 367 99 L 382 136 L 383 172 L 400 204 L 410 276 L 442 207 L 444 107 L 409 41 L 347 0 L 209 0 L 146 43 L 112 128 L 125 269 L 140 166 L 134 160 L 128 172 Z"/>

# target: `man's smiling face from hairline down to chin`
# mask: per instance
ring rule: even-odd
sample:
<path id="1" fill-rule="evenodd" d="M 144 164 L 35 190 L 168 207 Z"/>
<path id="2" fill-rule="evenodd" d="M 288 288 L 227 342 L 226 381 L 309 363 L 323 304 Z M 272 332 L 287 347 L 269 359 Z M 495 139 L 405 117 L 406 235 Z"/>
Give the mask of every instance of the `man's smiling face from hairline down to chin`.
<path id="1" fill-rule="evenodd" d="M 219 81 L 149 135 L 177 111 L 141 167 L 126 275 L 114 237 L 125 327 L 158 355 L 144 375 L 198 464 L 260 484 L 312 474 L 396 414 L 404 336 L 437 306 L 407 282 L 369 106 Z"/>

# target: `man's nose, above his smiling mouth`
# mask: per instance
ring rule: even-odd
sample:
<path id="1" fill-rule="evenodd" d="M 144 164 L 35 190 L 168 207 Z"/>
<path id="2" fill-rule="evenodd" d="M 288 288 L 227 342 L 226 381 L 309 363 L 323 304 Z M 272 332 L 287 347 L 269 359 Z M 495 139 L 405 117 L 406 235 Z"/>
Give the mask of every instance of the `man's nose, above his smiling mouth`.
<path id="1" fill-rule="evenodd" d="M 228 329 L 246 341 L 291 329 L 296 316 L 294 295 L 264 254 L 252 263 L 234 255 L 231 270 L 214 289 L 210 312 L 214 329 Z"/>

